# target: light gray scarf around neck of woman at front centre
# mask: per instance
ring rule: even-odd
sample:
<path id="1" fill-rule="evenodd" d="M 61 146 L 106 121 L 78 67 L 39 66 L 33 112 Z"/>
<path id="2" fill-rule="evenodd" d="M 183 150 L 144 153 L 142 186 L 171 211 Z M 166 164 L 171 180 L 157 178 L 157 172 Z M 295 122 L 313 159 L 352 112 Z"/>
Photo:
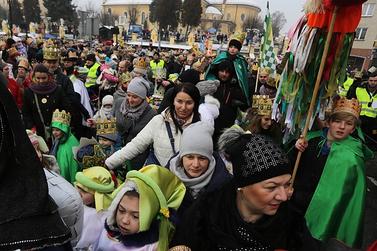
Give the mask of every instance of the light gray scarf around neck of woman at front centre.
<path id="1" fill-rule="evenodd" d="M 184 184 L 187 191 L 190 192 L 190 194 L 194 197 L 194 199 L 197 199 L 200 192 L 204 191 L 207 185 L 212 180 L 212 175 L 215 171 L 216 166 L 216 160 L 212 156 L 210 159 L 210 162 L 208 163 L 208 168 L 204 174 L 197 178 L 190 179 L 187 177 L 186 173 L 184 172 L 184 168 L 180 165 L 180 157 L 177 155 L 176 157 L 172 158 L 170 160 L 170 171 L 175 174 Z"/>

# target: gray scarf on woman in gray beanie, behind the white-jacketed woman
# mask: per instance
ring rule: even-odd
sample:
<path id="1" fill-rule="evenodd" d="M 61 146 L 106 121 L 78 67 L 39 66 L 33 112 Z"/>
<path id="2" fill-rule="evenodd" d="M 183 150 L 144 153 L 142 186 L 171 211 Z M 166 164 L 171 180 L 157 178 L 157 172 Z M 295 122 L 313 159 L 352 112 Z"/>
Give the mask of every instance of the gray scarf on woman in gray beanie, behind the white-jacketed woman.
<path id="1" fill-rule="evenodd" d="M 143 114 L 145 109 L 149 106 L 147 99 L 144 99 L 140 105 L 131 107 L 128 99 L 125 98 L 121 107 L 121 125 L 124 127 L 124 131 L 127 132 L 131 126 L 135 127 L 137 122 L 139 122 L 140 116 Z"/>

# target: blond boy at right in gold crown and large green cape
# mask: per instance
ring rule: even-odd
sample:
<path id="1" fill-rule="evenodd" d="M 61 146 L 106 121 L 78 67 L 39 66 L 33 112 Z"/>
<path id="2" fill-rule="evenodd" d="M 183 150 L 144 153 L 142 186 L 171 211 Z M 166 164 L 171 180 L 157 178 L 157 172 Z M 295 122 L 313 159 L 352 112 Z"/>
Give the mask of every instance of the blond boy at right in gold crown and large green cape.
<path id="1" fill-rule="evenodd" d="M 359 121 L 357 100 L 341 98 L 326 129 L 309 132 L 289 152 L 291 163 L 302 151 L 291 203 L 305 214 L 312 235 L 361 248 L 366 203 L 366 161 L 373 153 L 351 137 Z M 301 135 L 303 137 L 303 135 Z"/>

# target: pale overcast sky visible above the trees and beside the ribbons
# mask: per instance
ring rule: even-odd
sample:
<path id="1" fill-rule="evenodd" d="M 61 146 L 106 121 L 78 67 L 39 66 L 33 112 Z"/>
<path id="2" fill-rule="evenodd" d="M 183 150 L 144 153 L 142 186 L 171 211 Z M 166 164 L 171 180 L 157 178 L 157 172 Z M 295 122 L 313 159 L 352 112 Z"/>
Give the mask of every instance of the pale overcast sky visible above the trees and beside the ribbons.
<path id="1" fill-rule="evenodd" d="M 88 2 L 91 2 L 98 6 L 98 8 L 101 8 L 103 0 L 73 0 L 73 4 L 77 5 L 78 7 L 82 7 L 83 9 Z M 266 13 L 267 0 L 254 0 L 254 2 L 257 3 L 257 5 L 259 5 L 262 9 L 259 15 L 264 17 Z M 268 2 L 270 13 L 280 11 L 286 16 L 287 24 L 280 31 L 281 34 L 288 32 L 291 26 L 303 15 L 301 10 L 302 5 L 306 2 L 306 0 L 269 0 Z"/>

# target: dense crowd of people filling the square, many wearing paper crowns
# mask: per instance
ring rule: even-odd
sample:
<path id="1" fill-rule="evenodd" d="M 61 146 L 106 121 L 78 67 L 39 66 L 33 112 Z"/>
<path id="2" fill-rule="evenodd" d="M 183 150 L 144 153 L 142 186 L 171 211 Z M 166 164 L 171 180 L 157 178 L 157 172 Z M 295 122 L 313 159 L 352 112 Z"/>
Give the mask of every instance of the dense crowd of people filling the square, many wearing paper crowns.
<path id="1" fill-rule="evenodd" d="M 282 142 L 279 79 L 241 55 L 245 38 L 236 31 L 218 56 L 0 41 L 0 246 L 360 248 L 375 68 L 366 81 L 345 76 L 325 119 Z"/>

